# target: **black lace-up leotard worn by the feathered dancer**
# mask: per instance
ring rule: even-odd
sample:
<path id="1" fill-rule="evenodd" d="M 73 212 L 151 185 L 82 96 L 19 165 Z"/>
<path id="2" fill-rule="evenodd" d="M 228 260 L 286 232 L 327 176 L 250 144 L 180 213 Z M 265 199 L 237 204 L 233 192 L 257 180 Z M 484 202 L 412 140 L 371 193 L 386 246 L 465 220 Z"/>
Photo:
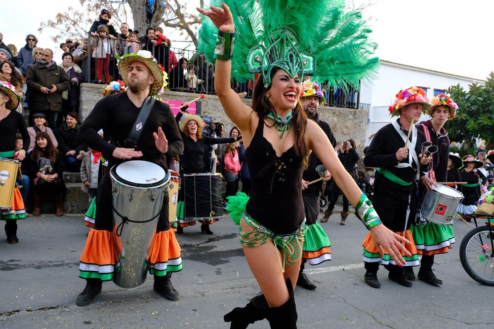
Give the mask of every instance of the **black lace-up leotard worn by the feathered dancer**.
<path id="1" fill-rule="evenodd" d="M 275 234 L 293 233 L 304 219 L 302 173 L 304 164 L 294 146 L 281 156 L 263 136 L 264 120 L 246 149 L 252 195 L 246 212 Z"/>

